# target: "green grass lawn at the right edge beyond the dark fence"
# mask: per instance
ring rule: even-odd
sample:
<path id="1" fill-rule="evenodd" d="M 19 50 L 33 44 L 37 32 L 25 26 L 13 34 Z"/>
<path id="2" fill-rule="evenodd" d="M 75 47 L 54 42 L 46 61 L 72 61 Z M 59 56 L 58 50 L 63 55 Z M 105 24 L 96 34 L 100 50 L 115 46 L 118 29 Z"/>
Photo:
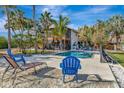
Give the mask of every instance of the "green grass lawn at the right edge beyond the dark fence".
<path id="1" fill-rule="evenodd" d="M 108 52 L 109 55 L 117 60 L 124 67 L 124 52 Z"/>

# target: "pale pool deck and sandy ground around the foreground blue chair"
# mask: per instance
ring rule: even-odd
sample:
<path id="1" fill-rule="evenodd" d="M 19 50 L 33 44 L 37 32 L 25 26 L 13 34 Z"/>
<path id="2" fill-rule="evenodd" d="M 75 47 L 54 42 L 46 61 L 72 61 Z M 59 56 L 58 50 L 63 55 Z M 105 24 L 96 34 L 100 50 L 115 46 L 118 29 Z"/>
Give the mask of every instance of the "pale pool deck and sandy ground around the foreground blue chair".
<path id="1" fill-rule="evenodd" d="M 19 83 L 19 80 L 17 80 L 18 84 L 14 87 L 118 88 L 118 84 L 109 65 L 107 63 L 100 63 L 99 54 L 94 54 L 93 58 L 80 59 L 82 69 L 79 70 L 78 73 L 78 83 L 76 83 L 70 76 L 66 77 L 67 82 L 63 83 L 61 69 L 59 67 L 63 58 L 64 57 L 53 55 L 34 55 L 33 57 L 27 57 L 27 63 L 46 62 L 48 68 L 37 68 L 37 75 L 25 75 L 27 72 L 23 73 L 23 76 L 33 80 L 31 82 L 24 80 L 23 83 Z M 2 74 L 4 68 L 0 67 L 0 70 L 0 73 Z M 10 81 L 4 82 L 3 87 L 13 87 L 9 85 Z"/>

